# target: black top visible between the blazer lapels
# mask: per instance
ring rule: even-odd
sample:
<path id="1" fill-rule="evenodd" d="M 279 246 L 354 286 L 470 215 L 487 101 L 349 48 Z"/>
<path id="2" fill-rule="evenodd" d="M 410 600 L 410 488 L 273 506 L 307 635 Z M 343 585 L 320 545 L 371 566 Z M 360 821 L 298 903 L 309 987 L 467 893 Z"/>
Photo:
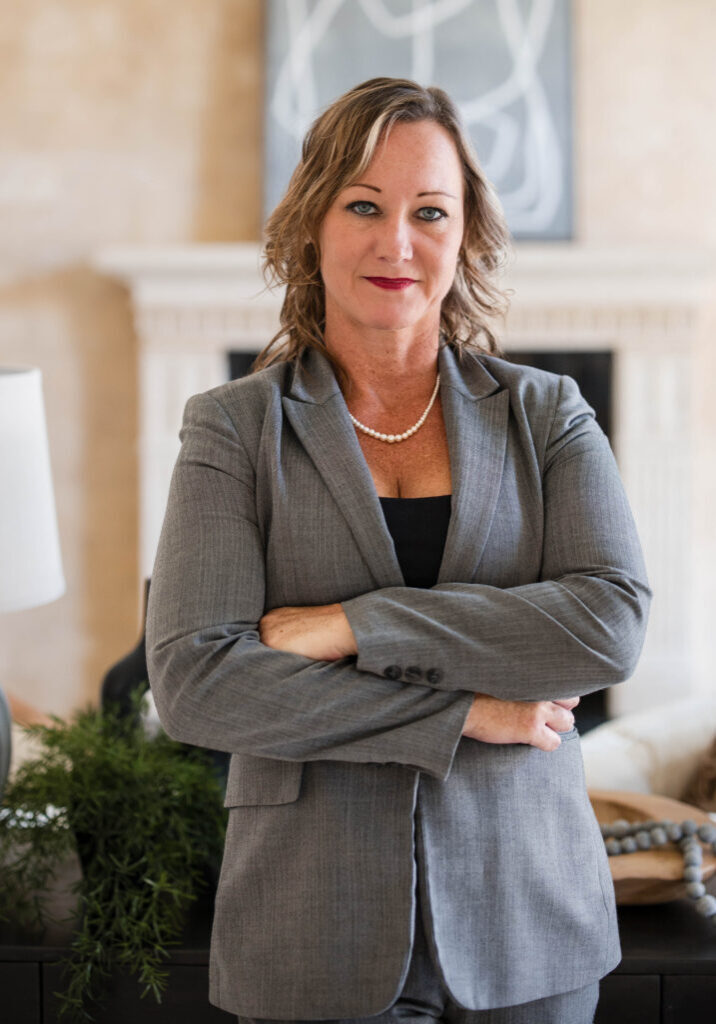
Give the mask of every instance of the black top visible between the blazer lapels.
<path id="1" fill-rule="evenodd" d="M 381 498 L 406 587 L 434 587 L 450 522 L 451 495 Z"/>

